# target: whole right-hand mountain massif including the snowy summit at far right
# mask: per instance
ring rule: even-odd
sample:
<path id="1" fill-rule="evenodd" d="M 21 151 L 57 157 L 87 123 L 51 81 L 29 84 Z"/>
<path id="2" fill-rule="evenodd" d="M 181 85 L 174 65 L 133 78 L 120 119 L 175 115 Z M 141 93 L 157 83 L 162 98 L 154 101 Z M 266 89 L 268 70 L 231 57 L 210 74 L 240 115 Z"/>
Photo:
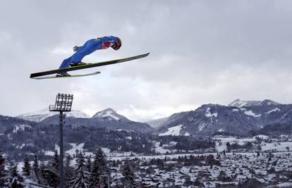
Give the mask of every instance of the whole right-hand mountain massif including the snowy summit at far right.
<path id="1" fill-rule="evenodd" d="M 269 100 L 236 101 L 237 103 L 231 103 L 230 106 L 207 104 L 195 111 L 171 115 L 156 134 L 248 135 L 251 131 L 260 130 L 266 125 L 292 123 L 292 105 L 278 104 Z"/>

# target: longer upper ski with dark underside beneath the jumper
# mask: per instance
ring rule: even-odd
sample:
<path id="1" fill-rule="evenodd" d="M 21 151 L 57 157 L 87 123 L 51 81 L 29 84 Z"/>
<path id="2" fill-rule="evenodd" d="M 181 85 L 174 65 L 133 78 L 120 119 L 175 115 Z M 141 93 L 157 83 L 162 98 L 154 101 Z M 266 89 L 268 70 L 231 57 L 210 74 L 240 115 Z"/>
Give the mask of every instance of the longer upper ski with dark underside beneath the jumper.
<path id="1" fill-rule="evenodd" d="M 135 60 L 138 58 L 144 58 L 144 57 L 148 56 L 149 54 L 150 53 L 142 54 L 139 56 L 133 56 L 133 57 L 129 57 L 129 58 L 120 58 L 120 59 L 111 60 L 111 61 L 103 61 L 103 62 L 98 62 L 98 63 L 88 63 L 86 65 L 79 65 L 79 66 L 70 67 L 70 68 L 60 68 L 60 69 L 55 69 L 55 70 L 47 70 L 47 71 L 39 72 L 39 73 L 32 73 L 32 74 L 30 74 L 30 78 L 40 77 L 40 76 L 44 76 L 44 75 L 51 75 L 51 74 L 55 74 L 55 73 L 60 73 L 62 71 L 81 70 L 81 69 L 85 69 L 85 68 L 94 68 L 94 67 L 99 67 L 99 66 L 104 66 L 104 65 L 123 63 L 126 61 L 132 61 L 132 60 Z"/>

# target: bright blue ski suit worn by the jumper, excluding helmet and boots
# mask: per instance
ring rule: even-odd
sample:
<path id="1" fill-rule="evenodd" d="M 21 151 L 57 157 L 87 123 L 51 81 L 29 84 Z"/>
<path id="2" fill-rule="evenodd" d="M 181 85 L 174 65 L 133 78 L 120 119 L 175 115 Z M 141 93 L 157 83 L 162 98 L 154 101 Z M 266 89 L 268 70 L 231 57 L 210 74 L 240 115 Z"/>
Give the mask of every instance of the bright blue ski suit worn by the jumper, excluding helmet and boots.
<path id="1" fill-rule="evenodd" d="M 70 63 L 78 63 L 85 56 L 91 54 L 98 49 L 107 49 L 116 43 L 116 37 L 100 37 L 97 39 L 89 39 L 80 47 L 71 57 L 66 58 L 60 65 L 60 68 L 68 68 Z"/>

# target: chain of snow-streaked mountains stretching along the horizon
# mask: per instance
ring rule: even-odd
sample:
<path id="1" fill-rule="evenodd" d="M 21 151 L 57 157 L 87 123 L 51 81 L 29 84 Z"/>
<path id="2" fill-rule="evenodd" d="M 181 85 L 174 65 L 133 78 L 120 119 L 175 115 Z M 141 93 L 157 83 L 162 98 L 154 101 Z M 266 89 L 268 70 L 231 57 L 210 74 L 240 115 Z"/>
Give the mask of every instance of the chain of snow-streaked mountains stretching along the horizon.
<path id="1" fill-rule="evenodd" d="M 30 117 L 31 113 L 27 115 Z M 56 125 L 59 123 L 58 115 L 56 113 L 49 115 L 39 123 Z M 292 105 L 279 104 L 269 99 L 263 101 L 236 99 L 228 106 L 204 104 L 194 111 L 174 113 L 169 117 L 147 123 L 129 120 L 114 109 L 105 108 L 91 118 L 84 115 L 67 115 L 66 123 L 74 127 L 106 127 L 111 130 L 152 132 L 157 135 L 238 134 L 247 136 L 249 132 L 260 130 L 265 125 L 292 123 Z"/>

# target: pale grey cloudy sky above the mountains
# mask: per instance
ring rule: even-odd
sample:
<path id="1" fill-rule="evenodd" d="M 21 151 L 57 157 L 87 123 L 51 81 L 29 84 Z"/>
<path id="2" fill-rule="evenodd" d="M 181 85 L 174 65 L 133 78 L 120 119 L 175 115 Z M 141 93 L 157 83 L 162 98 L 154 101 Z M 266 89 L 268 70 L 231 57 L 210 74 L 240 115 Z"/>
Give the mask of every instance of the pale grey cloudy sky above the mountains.
<path id="1" fill-rule="evenodd" d="M 1 1 L 0 114 L 19 115 L 74 94 L 73 108 L 114 108 L 131 120 L 163 118 L 234 99 L 292 103 L 291 1 Z M 59 67 L 74 45 L 108 35 L 121 50 L 85 62 L 151 52 L 138 61 L 32 80 Z M 71 72 L 73 73 L 73 72 Z"/>

